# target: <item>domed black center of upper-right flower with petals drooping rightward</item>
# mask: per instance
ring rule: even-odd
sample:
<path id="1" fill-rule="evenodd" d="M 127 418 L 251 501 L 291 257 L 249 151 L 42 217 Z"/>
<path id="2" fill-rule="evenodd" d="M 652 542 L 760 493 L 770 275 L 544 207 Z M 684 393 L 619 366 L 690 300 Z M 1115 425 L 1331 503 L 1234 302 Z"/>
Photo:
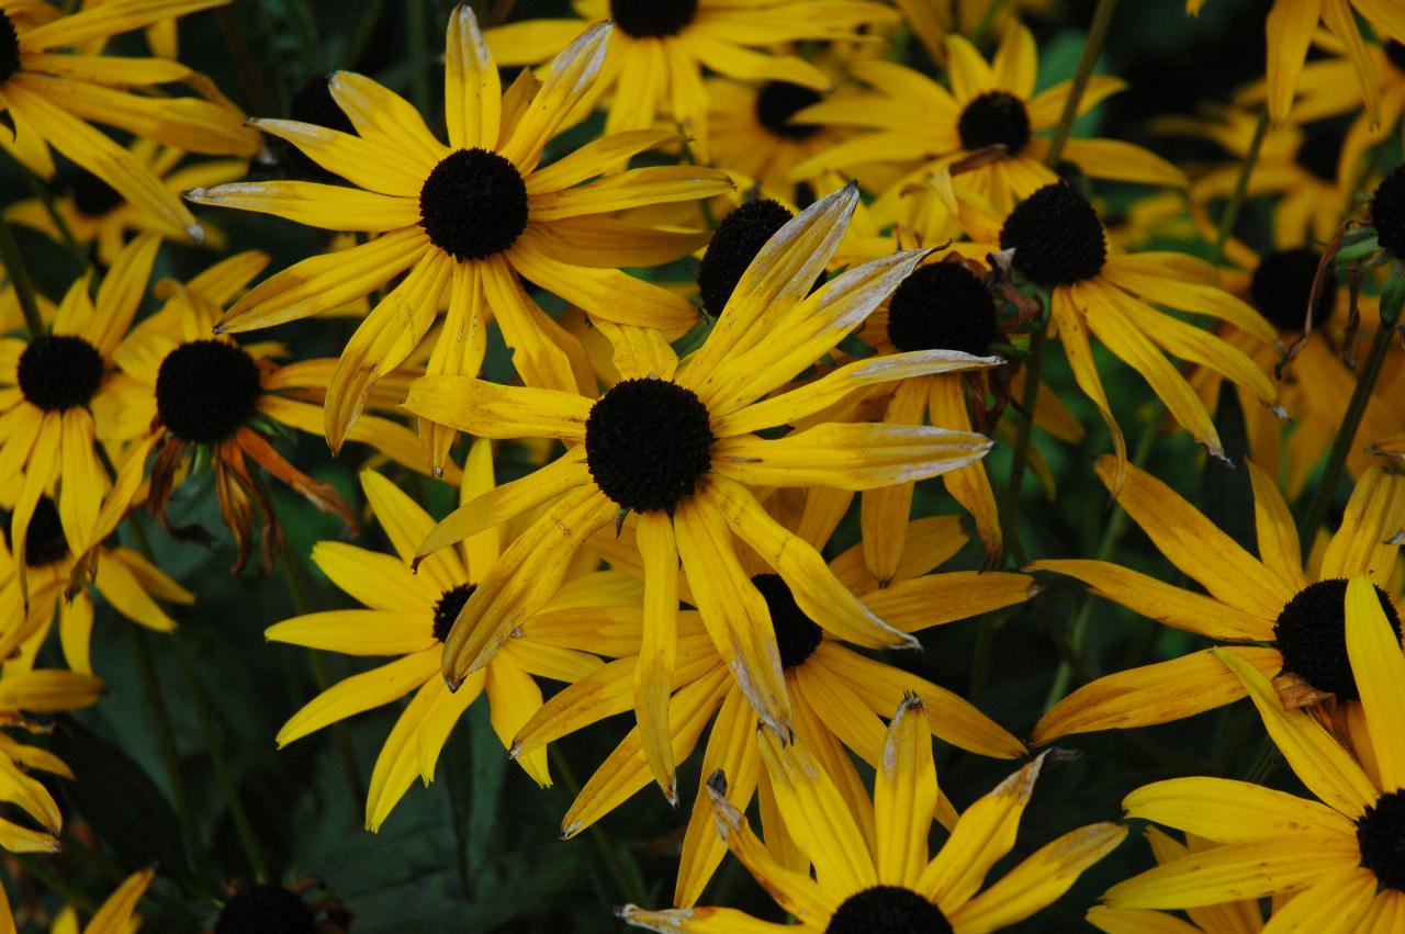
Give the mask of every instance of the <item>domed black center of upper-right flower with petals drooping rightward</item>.
<path id="1" fill-rule="evenodd" d="M 1035 285 L 1072 285 L 1097 275 L 1107 261 L 1103 223 L 1087 198 L 1055 181 L 1014 205 L 1000 228 L 1000 249 Z"/>

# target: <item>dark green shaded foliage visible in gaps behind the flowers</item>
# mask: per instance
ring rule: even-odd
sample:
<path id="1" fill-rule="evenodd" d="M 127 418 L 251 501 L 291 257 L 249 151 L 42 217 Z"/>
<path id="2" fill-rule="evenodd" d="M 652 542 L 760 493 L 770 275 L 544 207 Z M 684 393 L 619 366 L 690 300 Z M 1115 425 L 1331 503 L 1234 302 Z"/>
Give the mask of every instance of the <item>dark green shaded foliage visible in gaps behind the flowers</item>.
<path id="1" fill-rule="evenodd" d="M 452 6 L 451 0 L 350 4 L 237 0 L 225 10 L 181 22 L 181 58 L 209 73 L 256 115 L 285 115 L 303 81 L 333 69 L 368 73 L 436 114 L 441 105 L 437 49 Z M 562 13 L 565 6 L 521 0 L 513 18 Z M 1051 6 L 1057 13 L 1030 21 L 1041 49 L 1041 87 L 1072 74 L 1093 1 Z M 1103 70 L 1125 77 L 1130 90 L 1080 121 L 1076 132 L 1090 133 L 1096 128 L 1102 135 L 1148 145 L 1177 162 L 1225 157 L 1203 140 L 1155 136 L 1149 118 L 1227 100 L 1232 88 L 1262 74 L 1260 24 L 1267 6 L 1267 0 L 1215 0 L 1193 20 L 1182 15 L 1176 0 L 1123 4 L 1106 46 Z M 121 42 L 138 48 L 140 38 L 125 37 Z M 124 51 L 121 42 L 114 51 Z M 909 58 L 930 69 L 916 45 Z M 589 128 L 577 131 L 586 132 Z M 558 152 L 570 139 L 558 143 Z M 273 177 L 277 171 L 275 166 L 254 167 L 254 176 Z M 6 201 L 28 194 L 13 173 L 0 174 L 0 192 Z M 1109 216 L 1116 216 L 1137 190 L 1107 185 L 1099 192 Z M 323 244 L 323 235 L 316 230 L 261 215 L 222 212 L 215 219 L 228 232 L 232 250 L 259 247 L 271 253 L 271 270 L 284 268 Z M 1264 230 L 1263 205 L 1250 202 L 1239 233 L 1252 242 Z M 80 272 L 76 260 L 27 229 L 18 229 L 17 237 L 41 291 L 59 298 Z M 1158 246 L 1205 251 L 1197 243 Z M 184 278 L 208 261 L 209 254 L 194 247 L 167 247 L 157 277 Z M 676 278 L 694 271 L 695 261 L 687 260 L 653 274 Z M 544 303 L 549 308 L 549 302 Z M 353 326 L 348 320 L 312 320 L 284 326 L 270 336 L 285 341 L 296 358 L 305 358 L 334 354 Z M 506 350 L 496 340 L 486 367 L 490 378 L 507 374 L 506 360 Z M 1128 437 L 1135 438 L 1139 431 L 1135 426 L 1155 419 L 1159 409 L 1149 404 L 1149 390 L 1124 367 L 1106 357 L 1099 364 L 1107 374 L 1116 414 L 1128 426 Z M 1090 428 L 1089 437 L 1079 447 L 1068 447 L 1035 433 L 1035 444 L 1058 482 L 1058 496 L 1045 499 L 1037 483 L 1027 480 L 1016 520 L 1031 558 L 1090 556 L 1097 552 L 1107 525 L 1118 521 L 1103 489 L 1090 482 L 1089 465 L 1110 449 L 1110 441 L 1096 413 L 1073 392 L 1058 354 L 1050 360 L 1045 376 L 1064 399 L 1072 400 L 1071 406 Z M 1229 397 L 1217 413 L 1217 427 L 1231 455 L 1242 452 L 1242 419 Z M 1154 445 L 1158 476 L 1222 528 L 1248 541 L 1252 515 L 1245 472 L 1207 465 L 1203 452 L 1183 434 L 1161 437 L 1152 426 L 1146 438 Z M 350 445 L 341 458 L 333 459 L 318 438 L 287 437 L 282 444 L 295 463 L 337 485 L 351 501 L 361 501 L 355 473 L 368 455 L 365 448 Z M 1009 452 L 998 449 L 991 462 L 995 475 L 1003 476 Z M 509 458 L 499 466 L 500 479 L 510 479 L 514 469 L 525 468 L 514 468 Z M 422 501 L 436 515 L 450 508 L 452 492 L 443 485 L 409 472 L 392 469 L 392 475 L 406 489 L 423 494 Z M 171 511 L 185 521 L 218 528 L 211 493 L 208 479 L 187 483 L 173 500 Z M 337 522 L 281 489 L 273 490 L 273 496 L 288 528 L 288 553 L 298 567 L 287 572 L 280 566 L 271 577 L 226 574 L 233 551 L 225 535 L 208 551 L 177 546 L 143 517 L 133 520 L 146 524 L 162 567 L 198 594 L 195 607 L 176 614 L 192 663 L 190 676 L 212 698 L 209 715 L 229 753 L 233 780 L 268 875 L 285 883 L 303 874 L 319 876 L 347 903 L 355 916 L 353 930 L 361 934 L 604 931 L 620 927 L 610 910 L 621 902 L 667 902 L 687 806 L 672 810 L 649 788 L 597 829 L 569 841 L 556 838 L 559 817 L 573 791 L 624 735 L 624 718 L 559 743 L 552 757 L 556 785 L 540 791 L 507 761 L 488 723 L 486 708 L 476 705 L 454 732 L 440 761 L 438 781 L 430 789 L 412 789 L 379 834 L 361 827 L 364 791 L 396 708 L 361 715 L 284 751 L 274 749 L 278 726 L 319 690 L 319 683 L 340 680 L 367 666 L 330 655 L 309 664 L 313 653 L 264 642 L 264 626 L 295 615 L 294 587 L 305 588 L 313 610 L 350 605 L 306 562 L 313 542 L 337 537 Z M 953 511 L 955 504 L 940 485 L 917 497 L 917 514 Z M 857 521 L 850 517 L 832 549 L 854 541 Z M 358 544 L 384 546 L 385 539 L 372 525 Z M 1118 539 L 1116 558 L 1163 580 L 1177 577 L 1135 527 Z M 975 567 L 978 560 L 978 549 L 969 546 L 950 567 Z M 1085 604 L 1080 588 L 1066 579 L 1041 583 L 1045 590 L 1028 605 L 937 628 L 924 633 L 924 653 L 889 653 L 885 660 L 974 699 L 1016 735 L 1028 735 L 1047 706 L 1065 650 L 1062 633 Z M 1139 619 L 1104 601 L 1092 604 L 1086 621 L 1087 642 L 1078 660 L 1075 685 L 1096 674 L 1180 655 L 1197 642 L 1196 636 Z M 146 640 L 155 656 L 150 671 L 143 667 L 139 640 Z M 169 640 L 121 624 L 105 607 L 98 612 L 94 666 L 108 680 L 103 702 L 59 718 L 51 737 L 52 747 L 77 774 L 74 782 L 52 782 L 73 829 L 72 843 L 58 864 L 24 860 L 22 867 L 34 876 L 45 872 L 45 883 L 53 892 L 91 907 L 126 872 L 155 862 L 160 878 L 143 907 L 149 930 L 208 927 L 218 910 L 214 896 L 229 883 L 250 881 L 253 867 L 205 754 L 200 712 L 187 699 L 187 671 Z M 159 680 L 173 712 L 174 751 L 185 794 L 198 836 L 208 843 L 200 853 L 188 853 L 181 841 L 159 725 L 143 699 L 148 676 Z M 995 876 L 1059 833 L 1120 817 L 1123 795 L 1154 780 L 1180 774 L 1243 777 L 1267 768 L 1269 784 L 1291 788 L 1295 781 L 1291 774 L 1272 758 L 1262 758 L 1257 733 L 1252 711 L 1241 704 L 1163 728 L 1061 740 L 1058 746 L 1065 753 L 1051 757 L 1024 817 L 1020 843 L 996 867 Z M 691 802 L 697 789 L 698 758 L 694 756 L 680 770 L 684 802 Z M 944 744 L 937 749 L 937 767 L 958 808 L 1010 770 L 1007 763 Z M 1058 905 L 1021 930 L 1079 927 L 1099 892 L 1149 862 L 1145 844 L 1134 834 Z M 710 902 L 777 917 L 770 900 L 731 858 L 702 903 Z"/>

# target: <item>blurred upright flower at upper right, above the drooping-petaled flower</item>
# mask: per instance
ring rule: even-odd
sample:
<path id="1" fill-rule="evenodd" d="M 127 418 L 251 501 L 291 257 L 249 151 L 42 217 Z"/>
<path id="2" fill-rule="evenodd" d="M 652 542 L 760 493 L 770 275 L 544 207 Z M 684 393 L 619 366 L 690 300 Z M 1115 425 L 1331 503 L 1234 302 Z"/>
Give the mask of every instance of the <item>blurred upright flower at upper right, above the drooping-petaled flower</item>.
<path id="1" fill-rule="evenodd" d="M 1043 159 L 1048 139 L 1040 136 L 1059 119 L 1069 83 L 1034 94 L 1038 56 L 1034 37 L 1017 22 L 1006 29 L 992 62 L 969 41 L 948 35 L 951 90 L 930 77 L 894 62 L 857 60 L 854 77 L 870 86 L 860 93 L 836 93 L 808 107 L 792 119 L 798 124 L 860 126 L 873 132 L 828 146 L 795 169 L 808 178 L 822 169 L 850 169 L 887 163 L 908 169 L 874 202 L 880 223 L 901 216 L 906 190 L 937 169 L 988 154 L 979 167 L 957 176 L 996 213 L 1005 215 L 1016 199 L 1027 198 L 1058 180 Z M 1079 98 L 1079 112 L 1123 90 L 1116 77 L 1094 76 Z M 1151 152 L 1116 139 L 1069 139 L 1062 157 L 1094 178 L 1184 185 L 1179 169 Z"/>

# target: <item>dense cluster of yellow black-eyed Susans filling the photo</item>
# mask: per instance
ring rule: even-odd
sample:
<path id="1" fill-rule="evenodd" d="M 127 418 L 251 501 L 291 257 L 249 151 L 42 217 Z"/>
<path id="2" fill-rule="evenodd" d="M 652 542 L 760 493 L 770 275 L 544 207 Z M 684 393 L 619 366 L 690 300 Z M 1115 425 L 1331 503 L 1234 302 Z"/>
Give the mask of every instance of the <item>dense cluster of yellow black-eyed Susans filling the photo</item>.
<path id="1" fill-rule="evenodd" d="M 552 742 L 627 715 L 561 833 L 641 792 L 677 806 L 700 760 L 670 906 L 618 907 L 638 927 L 788 930 L 711 906 L 731 853 L 770 917 L 806 930 L 1038 930 L 1124 846 L 1125 815 L 1184 836 L 1125 844 L 1116 885 L 1073 906 L 1103 931 L 1405 930 L 1405 167 L 1381 162 L 1405 115 L 1398 4 L 1274 0 L 1264 79 L 1156 122 L 1227 157 L 1177 166 L 1073 132 L 1127 87 L 1094 73 L 1111 0 L 1062 83 L 1021 21 L 1048 3 L 576 0 L 507 21 L 499 0 L 492 28 L 464 3 L 443 119 L 341 70 L 288 118 L 246 118 L 177 62 L 177 20 L 228 3 L 0 0 L 0 149 L 32 192 L 0 222 L 0 725 L 32 735 L 0 735 L 0 799 L 24 815 L 0 817 L 0 847 L 83 836 L 53 789 L 103 777 L 49 735 L 56 713 L 101 709 L 100 608 L 166 633 L 211 719 L 173 618 L 200 581 L 159 566 L 143 514 L 173 542 L 218 542 L 176 518 L 212 483 L 233 572 L 261 556 L 243 586 L 281 588 L 282 560 L 299 591 L 267 639 L 388 659 L 336 683 L 319 669 L 322 692 L 266 739 L 409 698 L 368 830 L 434 780 L 475 702 L 542 787 Z M 152 55 L 110 53 L 136 29 Z M 1342 117 L 1314 171 L 1312 121 Z M 1249 199 L 1272 205 L 1267 236 L 1236 226 Z M 215 226 L 240 221 L 190 205 L 333 235 L 260 278 L 270 254 Z M 41 239 L 83 268 L 56 302 L 35 285 Z M 200 270 L 166 275 L 174 250 Z M 334 357 L 277 341 L 305 319 L 296 346 Z M 1118 395 L 1142 383 L 1128 445 Z M 346 447 L 360 496 L 295 433 Z M 1162 469 L 1152 449 L 1180 433 L 1203 452 Z M 1075 444 L 1100 452 L 1092 473 L 1057 463 Z M 1246 482 L 1257 553 L 1176 489 L 1221 463 Z M 311 563 L 355 608 L 306 605 L 298 504 L 268 476 L 343 525 Z M 1028 521 L 1092 476 L 1116 503 L 1097 548 Z M 1117 560 L 1128 520 L 1180 576 Z M 381 539 L 347 541 L 371 525 Z M 1069 579 L 1190 635 L 1151 652 L 1148 628 L 1137 662 L 1155 660 L 1099 677 L 1096 604 L 1068 625 L 1041 596 Z M 1027 742 L 979 702 L 1019 674 L 989 653 L 1024 605 L 1054 617 L 1059 653 Z M 888 652 L 964 619 L 985 653 L 969 698 Z M 156 643 L 135 638 L 159 709 Z M 1123 775 L 1141 785 L 1123 813 L 1113 795 L 1109 820 L 1006 860 L 1041 768 L 1068 758 L 1040 747 L 1245 697 L 1272 740 L 1253 781 L 1201 777 L 1182 750 L 1176 777 Z M 185 822 L 171 726 L 153 730 Z M 933 740 L 1021 763 L 953 801 Z M 1318 801 L 1264 782 L 1276 754 Z M 257 876 L 218 897 L 214 931 L 348 930 L 340 902 L 270 883 L 228 757 L 209 756 Z M 11 865 L 0 934 L 46 917 L 42 890 L 10 910 L 41 858 Z M 131 931 L 159 896 L 162 867 L 122 869 L 84 931 Z M 76 907 L 52 930 L 76 934 Z"/>

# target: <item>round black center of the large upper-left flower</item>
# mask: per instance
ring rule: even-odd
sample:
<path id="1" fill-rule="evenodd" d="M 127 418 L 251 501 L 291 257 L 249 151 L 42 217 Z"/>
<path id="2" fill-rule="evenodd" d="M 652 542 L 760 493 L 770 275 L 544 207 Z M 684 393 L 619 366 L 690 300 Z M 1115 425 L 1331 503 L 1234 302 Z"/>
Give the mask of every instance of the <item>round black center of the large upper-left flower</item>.
<path id="1" fill-rule="evenodd" d="M 420 226 L 430 243 L 459 263 L 486 260 L 527 229 L 527 184 L 497 153 L 459 149 L 424 180 Z"/>

